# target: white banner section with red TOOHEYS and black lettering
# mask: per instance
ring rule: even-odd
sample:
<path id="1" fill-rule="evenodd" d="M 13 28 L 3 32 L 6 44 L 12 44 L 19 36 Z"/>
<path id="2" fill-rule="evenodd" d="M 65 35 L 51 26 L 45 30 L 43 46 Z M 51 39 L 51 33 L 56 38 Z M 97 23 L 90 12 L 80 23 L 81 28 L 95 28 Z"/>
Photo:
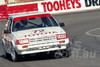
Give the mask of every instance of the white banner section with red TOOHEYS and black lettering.
<path id="1" fill-rule="evenodd" d="M 62 13 L 100 8 L 100 0 L 49 0 L 38 5 L 39 11 Z"/>

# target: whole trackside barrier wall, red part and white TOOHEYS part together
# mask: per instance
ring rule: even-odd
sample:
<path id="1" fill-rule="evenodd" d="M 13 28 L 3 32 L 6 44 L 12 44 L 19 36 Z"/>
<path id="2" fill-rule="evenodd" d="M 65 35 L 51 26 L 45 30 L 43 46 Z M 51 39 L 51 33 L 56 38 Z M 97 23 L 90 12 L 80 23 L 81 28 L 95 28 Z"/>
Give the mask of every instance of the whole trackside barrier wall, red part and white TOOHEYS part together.
<path id="1" fill-rule="evenodd" d="M 22 12 L 63 13 L 100 8 L 100 0 L 49 0 L 0 6 L 0 19 Z M 4 12 L 3 12 L 3 11 Z M 6 17 L 5 17 L 6 16 Z"/>

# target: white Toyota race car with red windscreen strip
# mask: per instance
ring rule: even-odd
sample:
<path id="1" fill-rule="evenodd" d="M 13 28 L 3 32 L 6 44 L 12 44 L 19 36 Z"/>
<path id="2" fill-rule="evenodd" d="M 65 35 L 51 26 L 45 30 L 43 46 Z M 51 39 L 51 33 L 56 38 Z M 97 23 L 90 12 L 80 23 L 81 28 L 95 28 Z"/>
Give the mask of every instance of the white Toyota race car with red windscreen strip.
<path id="1" fill-rule="evenodd" d="M 2 32 L 5 57 L 11 55 L 13 61 L 21 56 L 42 52 L 54 53 L 55 57 L 63 51 L 69 55 L 69 38 L 48 13 L 31 12 L 10 15 Z"/>

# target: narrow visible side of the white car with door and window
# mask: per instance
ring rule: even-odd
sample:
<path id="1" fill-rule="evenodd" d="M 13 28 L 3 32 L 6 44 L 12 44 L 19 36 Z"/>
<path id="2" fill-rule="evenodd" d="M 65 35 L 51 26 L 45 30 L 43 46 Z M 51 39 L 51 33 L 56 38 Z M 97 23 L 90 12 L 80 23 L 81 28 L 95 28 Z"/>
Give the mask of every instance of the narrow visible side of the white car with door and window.
<path id="1" fill-rule="evenodd" d="M 5 48 L 7 52 L 10 52 L 11 50 L 11 28 L 12 28 L 12 19 L 8 19 L 6 21 L 4 29 Z"/>

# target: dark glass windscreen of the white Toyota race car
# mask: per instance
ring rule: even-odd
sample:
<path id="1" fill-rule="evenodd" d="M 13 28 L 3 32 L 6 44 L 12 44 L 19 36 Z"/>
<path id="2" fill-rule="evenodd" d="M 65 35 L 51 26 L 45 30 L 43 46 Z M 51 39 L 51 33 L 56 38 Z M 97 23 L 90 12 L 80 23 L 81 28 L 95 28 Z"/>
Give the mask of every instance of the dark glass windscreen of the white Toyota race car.
<path id="1" fill-rule="evenodd" d="M 22 20 L 16 20 L 13 23 L 13 31 L 33 29 L 33 28 L 43 28 L 43 27 L 54 27 L 58 26 L 53 17 L 31 17 Z"/>

